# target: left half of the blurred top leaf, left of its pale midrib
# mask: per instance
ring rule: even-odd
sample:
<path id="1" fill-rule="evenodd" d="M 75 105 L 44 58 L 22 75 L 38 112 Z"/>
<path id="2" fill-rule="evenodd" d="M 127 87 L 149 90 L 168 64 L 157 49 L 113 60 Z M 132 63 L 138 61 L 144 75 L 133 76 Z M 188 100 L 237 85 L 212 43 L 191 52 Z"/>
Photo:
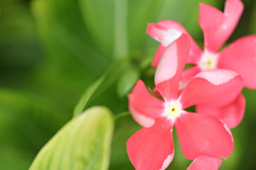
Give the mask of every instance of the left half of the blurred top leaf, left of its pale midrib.
<path id="1" fill-rule="evenodd" d="M 94 42 L 105 54 L 113 54 L 113 0 L 79 0 L 82 18 Z"/>

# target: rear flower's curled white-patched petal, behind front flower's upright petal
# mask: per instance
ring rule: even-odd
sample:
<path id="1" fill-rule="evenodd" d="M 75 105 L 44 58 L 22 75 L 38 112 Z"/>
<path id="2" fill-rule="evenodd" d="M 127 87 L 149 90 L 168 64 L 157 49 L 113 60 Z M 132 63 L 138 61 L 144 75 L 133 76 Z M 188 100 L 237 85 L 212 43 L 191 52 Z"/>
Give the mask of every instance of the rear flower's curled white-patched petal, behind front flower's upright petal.
<path id="1" fill-rule="evenodd" d="M 187 63 L 196 64 L 202 55 L 202 50 L 199 48 L 195 40 L 180 23 L 174 20 L 161 20 L 158 23 L 150 23 L 147 27 L 147 33 L 149 36 L 161 43 L 154 55 L 151 67 L 157 67 L 166 47 L 177 40 L 183 33 L 187 34 L 191 40 L 191 50 Z"/>

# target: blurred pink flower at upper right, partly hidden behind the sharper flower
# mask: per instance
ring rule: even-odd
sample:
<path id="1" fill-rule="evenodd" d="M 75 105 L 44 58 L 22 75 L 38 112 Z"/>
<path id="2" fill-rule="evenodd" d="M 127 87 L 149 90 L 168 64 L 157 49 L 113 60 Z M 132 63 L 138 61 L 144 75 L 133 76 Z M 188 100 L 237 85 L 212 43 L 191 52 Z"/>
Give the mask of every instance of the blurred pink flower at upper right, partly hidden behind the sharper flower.
<path id="1" fill-rule="evenodd" d="M 256 35 L 242 37 L 218 52 L 235 29 L 243 8 L 240 0 L 226 0 L 224 13 L 217 8 L 200 3 L 198 22 L 204 32 L 204 51 L 189 36 L 192 44 L 186 63 L 195 66 L 183 71 L 180 90 L 199 72 L 218 68 L 235 71 L 244 78 L 245 87 L 256 89 Z M 161 42 L 151 64 L 153 67 L 157 66 L 167 45 L 180 37 L 182 33 L 188 34 L 182 25 L 172 20 L 148 24 L 147 33 Z M 154 93 L 159 94 L 157 89 L 154 89 Z M 198 113 L 216 115 L 230 128 L 239 125 L 244 116 L 244 109 L 245 99 L 242 94 L 224 108 L 196 106 Z"/>

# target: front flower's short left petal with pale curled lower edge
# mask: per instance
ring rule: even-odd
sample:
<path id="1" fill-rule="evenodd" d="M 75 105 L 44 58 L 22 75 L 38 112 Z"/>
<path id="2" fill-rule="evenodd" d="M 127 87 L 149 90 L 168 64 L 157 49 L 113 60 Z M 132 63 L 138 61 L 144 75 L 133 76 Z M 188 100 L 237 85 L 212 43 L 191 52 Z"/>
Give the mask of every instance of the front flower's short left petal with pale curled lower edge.
<path id="1" fill-rule="evenodd" d="M 152 96 L 142 80 L 139 80 L 134 86 L 128 99 L 131 115 L 143 127 L 151 127 L 154 125 L 154 119 L 164 113 L 164 102 Z"/>

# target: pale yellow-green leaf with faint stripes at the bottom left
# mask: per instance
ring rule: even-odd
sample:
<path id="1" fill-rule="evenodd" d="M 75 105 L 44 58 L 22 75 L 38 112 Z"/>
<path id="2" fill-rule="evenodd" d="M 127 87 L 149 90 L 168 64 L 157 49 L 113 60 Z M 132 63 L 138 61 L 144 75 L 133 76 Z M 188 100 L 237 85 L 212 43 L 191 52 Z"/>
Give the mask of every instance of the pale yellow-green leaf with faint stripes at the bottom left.
<path id="1" fill-rule="evenodd" d="M 108 170 L 112 135 L 111 111 L 92 107 L 62 127 L 29 170 Z"/>

